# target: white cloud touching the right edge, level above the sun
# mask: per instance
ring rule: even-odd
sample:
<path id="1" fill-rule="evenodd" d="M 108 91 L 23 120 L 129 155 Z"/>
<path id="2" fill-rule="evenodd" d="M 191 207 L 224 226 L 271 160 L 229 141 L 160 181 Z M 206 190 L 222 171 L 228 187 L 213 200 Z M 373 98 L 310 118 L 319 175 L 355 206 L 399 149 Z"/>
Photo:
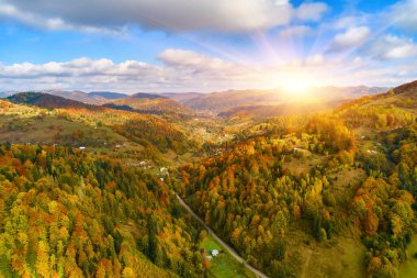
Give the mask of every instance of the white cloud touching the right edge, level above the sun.
<path id="1" fill-rule="evenodd" d="M 372 42 L 368 54 L 383 60 L 417 57 L 417 45 L 412 38 L 384 35 Z"/>

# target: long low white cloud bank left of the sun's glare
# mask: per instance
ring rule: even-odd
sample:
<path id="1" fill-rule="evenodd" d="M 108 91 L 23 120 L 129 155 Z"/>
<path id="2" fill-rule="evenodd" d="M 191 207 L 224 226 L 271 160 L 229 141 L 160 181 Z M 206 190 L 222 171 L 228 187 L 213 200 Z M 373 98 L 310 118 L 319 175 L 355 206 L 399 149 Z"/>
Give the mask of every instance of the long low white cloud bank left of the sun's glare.
<path id="1" fill-rule="evenodd" d="M 191 51 L 167 49 L 159 59 L 162 66 L 126 60 L 78 58 L 45 64 L 0 64 L 0 88 L 8 90 L 41 90 L 78 88 L 84 90 L 117 90 L 135 92 L 215 90 L 247 88 L 258 81 L 258 69 L 230 64 Z M 263 71 L 262 71 L 263 73 Z M 204 88 L 206 85 L 207 88 Z"/>

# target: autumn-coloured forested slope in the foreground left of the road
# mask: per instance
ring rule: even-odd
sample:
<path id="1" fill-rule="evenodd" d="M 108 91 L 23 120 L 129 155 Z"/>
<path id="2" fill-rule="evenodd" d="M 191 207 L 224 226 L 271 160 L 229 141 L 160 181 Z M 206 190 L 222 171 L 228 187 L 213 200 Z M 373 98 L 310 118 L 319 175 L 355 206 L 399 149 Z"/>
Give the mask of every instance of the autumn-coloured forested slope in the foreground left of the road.
<path id="1" fill-rule="evenodd" d="M 196 232 L 159 178 L 68 147 L 0 146 L 4 277 L 199 277 Z"/>

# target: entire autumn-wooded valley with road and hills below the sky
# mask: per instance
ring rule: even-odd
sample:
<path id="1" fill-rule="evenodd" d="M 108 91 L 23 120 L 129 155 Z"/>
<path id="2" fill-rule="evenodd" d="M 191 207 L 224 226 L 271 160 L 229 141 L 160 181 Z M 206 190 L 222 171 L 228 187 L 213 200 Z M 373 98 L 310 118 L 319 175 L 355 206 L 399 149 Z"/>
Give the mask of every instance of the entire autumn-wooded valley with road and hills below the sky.
<path id="1" fill-rule="evenodd" d="M 285 113 L 195 93 L 9 96 L 0 274 L 412 277 L 417 82 L 361 93 Z"/>

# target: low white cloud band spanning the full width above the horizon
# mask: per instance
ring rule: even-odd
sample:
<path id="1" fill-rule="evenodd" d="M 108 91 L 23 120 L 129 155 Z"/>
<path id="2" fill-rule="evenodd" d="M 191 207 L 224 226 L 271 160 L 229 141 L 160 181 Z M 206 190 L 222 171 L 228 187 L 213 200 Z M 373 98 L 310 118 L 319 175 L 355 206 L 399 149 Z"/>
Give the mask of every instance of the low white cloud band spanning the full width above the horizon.
<path id="1" fill-rule="evenodd" d="M 363 68 L 361 59 L 328 59 L 320 54 L 303 60 L 259 67 L 229 63 L 185 49 L 166 49 L 158 57 L 162 65 L 137 60 L 116 64 L 111 59 L 89 58 L 64 63 L 0 64 L 0 88 L 124 92 L 215 91 L 277 88 L 301 79 L 314 86 L 391 85 L 406 81 L 417 71 L 413 62 L 399 68 L 381 68 L 377 65 L 374 68 Z"/>

